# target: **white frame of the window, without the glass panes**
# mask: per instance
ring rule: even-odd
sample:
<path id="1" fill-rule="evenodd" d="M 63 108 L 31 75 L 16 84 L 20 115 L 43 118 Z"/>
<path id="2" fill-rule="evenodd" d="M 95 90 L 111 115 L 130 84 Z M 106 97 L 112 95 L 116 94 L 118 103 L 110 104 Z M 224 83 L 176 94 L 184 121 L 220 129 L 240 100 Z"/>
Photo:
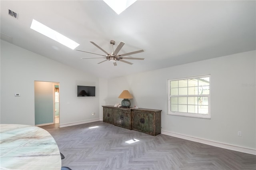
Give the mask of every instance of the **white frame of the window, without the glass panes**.
<path id="1" fill-rule="evenodd" d="M 203 77 L 209 77 L 210 75 L 198 75 L 198 76 L 193 76 L 193 77 L 184 77 L 184 78 L 177 78 L 177 79 L 168 79 L 168 115 L 177 115 L 177 116 L 185 116 L 185 117 L 197 117 L 197 118 L 204 118 L 204 119 L 211 119 L 211 113 L 210 113 L 210 92 L 211 92 L 211 87 L 210 87 L 210 92 L 209 95 L 171 95 L 171 86 L 170 82 L 171 81 L 177 81 L 177 80 L 186 80 L 186 79 L 196 79 L 196 78 L 203 78 Z M 209 86 L 211 84 L 211 80 L 209 83 Z M 201 114 L 201 113 L 188 113 L 188 112 L 175 112 L 171 111 L 171 97 L 208 97 L 208 114 Z M 188 105 L 188 104 L 187 104 Z"/>

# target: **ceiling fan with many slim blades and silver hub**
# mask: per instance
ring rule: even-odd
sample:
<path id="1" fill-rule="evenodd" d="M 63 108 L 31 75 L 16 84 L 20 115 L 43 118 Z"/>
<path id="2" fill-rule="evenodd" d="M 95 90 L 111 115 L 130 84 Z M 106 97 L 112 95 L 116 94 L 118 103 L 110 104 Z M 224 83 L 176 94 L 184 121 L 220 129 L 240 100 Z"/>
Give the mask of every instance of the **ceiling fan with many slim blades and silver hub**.
<path id="1" fill-rule="evenodd" d="M 144 60 L 144 58 L 134 58 L 134 57 L 123 57 L 123 56 L 126 56 L 126 55 L 132 55 L 132 54 L 136 54 L 136 53 L 141 53 L 141 52 L 144 52 L 143 49 L 141 50 L 138 50 L 138 51 L 133 51 L 133 52 L 130 52 L 130 53 L 124 53 L 124 54 L 118 54 L 118 52 L 120 51 L 120 49 L 124 46 L 124 42 L 120 42 L 118 44 L 118 46 L 116 47 L 115 51 L 114 51 L 114 45 L 115 45 L 115 41 L 114 40 L 111 40 L 110 41 L 110 44 L 112 45 L 112 52 L 111 53 L 108 53 L 107 51 L 105 51 L 104 49 L 102 49 L 99 45 L 97 45 L 96 43 L 94 42 L 90 42 L 92 43 L 93 45 L 95 45 L 96 47 L 98 47 L 101 51 L 103 51 L 104 53 L 106 53 L 106 55 L 102 55 L 104 57 L 92 57 L 92 58 L 106 58 L 106 60 L 104 61 L 113 61 L 113 64 L 114 66 L 116 66 L 116 61 L 122 61 L 124 63 L 127 63 L 127 64 L 133 64 L 133 63 L 130 63 L 128 61 L 125 61 L 123 59 L 139 59 L 139 60 Z M 82 51 L 82 50 L 79 50 L 79 49 L 76 49 L 77 51 Z M 88 51 L 82 51 L 82 52 L 86 52 L 86 53 L 91 53 L 91 52 L 88 52 Z M 91 54 L 96 54 L 96 53 L 91 53 Z M 96 55 L 101 55 L 101 54 L 96 54 Z M 92 59 L 92 58 L 81 58 L 81 59 Z M 98 64 L 100 63 L 103 63 L 104 61 L 101 61 L 99 62 Z"/>

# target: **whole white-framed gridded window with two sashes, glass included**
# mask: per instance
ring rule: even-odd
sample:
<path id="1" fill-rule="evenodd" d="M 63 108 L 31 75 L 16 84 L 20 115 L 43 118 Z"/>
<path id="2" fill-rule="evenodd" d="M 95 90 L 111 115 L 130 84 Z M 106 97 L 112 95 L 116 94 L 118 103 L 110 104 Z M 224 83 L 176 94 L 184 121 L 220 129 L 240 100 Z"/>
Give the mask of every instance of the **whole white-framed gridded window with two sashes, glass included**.
<path id="1" fill-rule="evenodd" d="M 210 119 L 210 75 L 168 80 L 168 114 Z"/>

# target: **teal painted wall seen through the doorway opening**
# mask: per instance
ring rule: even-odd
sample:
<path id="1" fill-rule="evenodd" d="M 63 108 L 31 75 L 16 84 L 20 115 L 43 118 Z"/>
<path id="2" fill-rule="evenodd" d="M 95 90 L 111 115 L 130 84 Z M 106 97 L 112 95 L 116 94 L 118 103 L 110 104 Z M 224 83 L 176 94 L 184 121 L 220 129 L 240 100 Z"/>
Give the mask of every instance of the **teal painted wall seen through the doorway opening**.
<path id="1" fill-rule="evenodd" d="M 53 83 L 35 81 L 35 125 L 53 123 Z"/>

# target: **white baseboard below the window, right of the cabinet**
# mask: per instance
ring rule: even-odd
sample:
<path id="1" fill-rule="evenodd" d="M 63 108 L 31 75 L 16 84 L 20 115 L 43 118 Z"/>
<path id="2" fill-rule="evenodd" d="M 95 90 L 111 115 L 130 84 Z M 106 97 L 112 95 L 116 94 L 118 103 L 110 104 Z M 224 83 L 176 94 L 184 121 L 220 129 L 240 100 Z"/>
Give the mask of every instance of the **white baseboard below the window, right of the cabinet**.
<path id="1" fill-rule="evenodd" d="M 256 150 L 255 149 L 244 148 L 244 147 L 234 146 L 234 145 L 230 145 L 230 144 L 224 144 L 224 143 L 215 142 L 215 141 L 211 141 L 211 140 L 205 140 L 205 139 L 201 139 L 201 138 L 195 138 L 195 137 L 192 137 L 192 136 L 186 136 L 184 134 L 168 132 L 168 131 L 165 131 L 165 130 L 161 130 L 161 133 L 166 134 L 168 136 L 174 136 L 174 137 L 177 137 L 177 138 L 182 138 L 182 139 L 191 140 L 191 141 L 194 141 L 194 142 L 199 142 L 199 143 L 208 144 L 208 145 L 211 145 L 211 146 L 216 146 L 216 147 L 219 147 L 219 148 L 235 150 L 235 151 L 238 151 L 238 152 L 244 152 L 244 153 L 256 155 Z"/>

